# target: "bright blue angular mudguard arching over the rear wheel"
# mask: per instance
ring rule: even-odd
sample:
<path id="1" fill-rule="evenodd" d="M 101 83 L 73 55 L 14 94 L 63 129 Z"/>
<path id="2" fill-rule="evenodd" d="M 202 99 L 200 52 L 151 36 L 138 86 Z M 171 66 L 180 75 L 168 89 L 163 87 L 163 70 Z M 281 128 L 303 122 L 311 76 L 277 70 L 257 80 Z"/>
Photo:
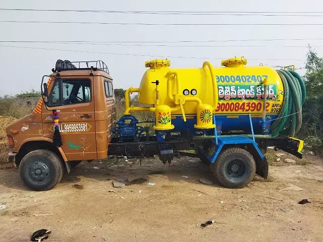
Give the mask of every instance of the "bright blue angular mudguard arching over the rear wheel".
<path id="1" fill-rule="evenodd" d="M 205 154 L 205 156 L 208 158 L 208 160 L 210 161 L 211 164 L 213 164 L 214 161 L 216 161 L 216 159 L 218 158 L 222 148 L 225 145 L 232 145 L 232 144 L 252 144 L 253 147 L 258 152 L 261 159 L 264 160 L 264 156 L 263 156 L 262 152 L 260 151 L 257 143 L 254 140 L 249 139 L 248 137 L 242 137 L 242 136 L 228 136 L 228 137 L 225 137 L 225 136 L 223 136 L 223 137 L 218 137 L 218 145 L 216 144 L 215 140 L 214 141 L 212 140 L 212 143 L 214 145 L 212 145 L 208 149 L 208 152 Z"/>

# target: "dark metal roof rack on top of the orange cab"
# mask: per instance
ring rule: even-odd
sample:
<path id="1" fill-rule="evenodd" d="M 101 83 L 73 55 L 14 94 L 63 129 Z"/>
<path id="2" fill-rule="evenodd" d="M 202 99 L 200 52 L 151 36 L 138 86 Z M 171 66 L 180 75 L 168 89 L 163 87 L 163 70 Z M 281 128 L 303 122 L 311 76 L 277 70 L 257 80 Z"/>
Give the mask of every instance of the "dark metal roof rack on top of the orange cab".
<path id="1" fill-rule="evenodd" d="M 61 59 L 58 59 L 55 64 L 55 68 L 51 69 L 52 72 L 61 72 L 67 70 L 99 70 L 110 74 L 106 64 L 101 60 L 88 62 L 70 62 L 68 60 L 62 61 Z"/>

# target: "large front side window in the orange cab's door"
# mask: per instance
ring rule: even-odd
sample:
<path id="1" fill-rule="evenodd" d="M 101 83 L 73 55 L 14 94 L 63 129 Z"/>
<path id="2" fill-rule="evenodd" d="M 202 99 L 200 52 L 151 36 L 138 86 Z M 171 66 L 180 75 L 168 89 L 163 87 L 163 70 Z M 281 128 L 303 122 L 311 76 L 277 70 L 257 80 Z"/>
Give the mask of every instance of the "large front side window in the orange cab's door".
<path id="1" fill-rule="evenodd" d="M 48 106 L 62 106 L 90 101 L 90 80 L 58 79 L 55 81 L 52 91 L 49 94 Z"/>

